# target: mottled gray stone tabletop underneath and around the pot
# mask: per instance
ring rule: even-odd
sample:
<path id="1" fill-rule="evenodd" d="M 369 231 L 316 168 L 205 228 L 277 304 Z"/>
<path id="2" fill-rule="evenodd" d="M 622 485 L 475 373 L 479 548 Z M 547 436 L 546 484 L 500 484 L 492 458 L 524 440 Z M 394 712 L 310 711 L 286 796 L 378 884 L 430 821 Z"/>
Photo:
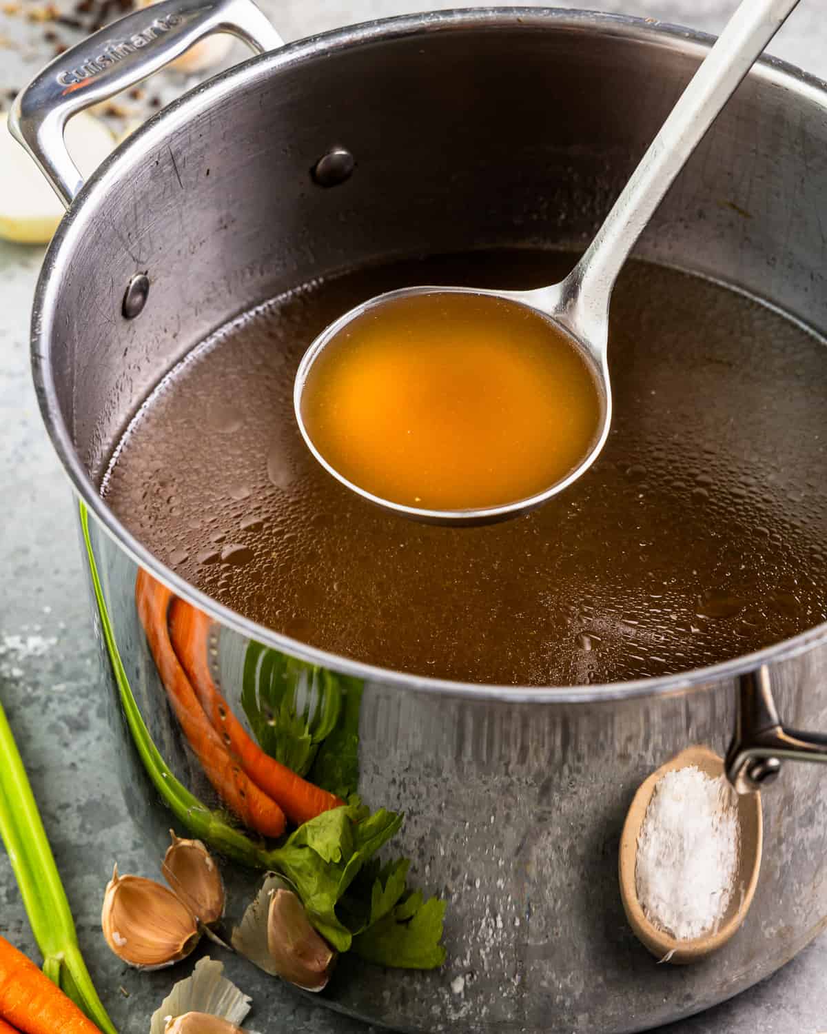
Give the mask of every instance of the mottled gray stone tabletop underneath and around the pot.
<path id="1" fill-rule="evenodd" d="M 31 0 L 27 0 L 31 2 Z M 348 21 L 448 3 L 422 0 L 283 0 L 265 3 L 287 38 Z M 603 0 L 625 10 L 714 31 L 735 0 Z M 0 95 L 18 87 L 48 57 L 41 32 L 3 20 Z M 824 0 L 804 0 L 772 50 L 827 77 Z M 169 89 L 176 88 L 167 84 Z M 40 265 L 39 248 L 0 242 L 0 700 L 8 712 L 63 875 L 81 946 L 111 1014 L 123 1034 L 148 1030 L 148 1020 L 174 971 L 137 974 L 119 964 L 100 934 L 103 886 L 118 860 L 123 871 L 153 875 L 148 856 L 110 772 L 113 758 L 101 699 L 96 647 L 73 528 L 67 484 L 42 430 L 28 367 L 28 313 Z M 2 759 L 0 759 L 2 763 Z M 0 933 L 36 957 L 7 859 L 0 852 Z M 248 971 L 222 957 L 240 985 Z M 822 937 L 773 978 L 739 999 L 669 1028 L 671 1034 L 817 1034 L 827 1030 L 827 939 Z M 262 1032 L 360 1034 L 370 1028 L 333 1015 L 290 990 L 257 994 L 251 1026 Z M 599 1032 L 598 1032 L 599 1034 Z"/>

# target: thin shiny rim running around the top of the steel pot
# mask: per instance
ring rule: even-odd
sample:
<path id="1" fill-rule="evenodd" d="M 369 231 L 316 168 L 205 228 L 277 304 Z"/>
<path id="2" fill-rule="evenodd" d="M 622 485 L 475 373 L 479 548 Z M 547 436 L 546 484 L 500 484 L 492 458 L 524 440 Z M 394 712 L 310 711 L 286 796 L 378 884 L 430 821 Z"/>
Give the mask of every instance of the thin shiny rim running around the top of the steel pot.
<path id="1" fill-rule="evenodd" d="M 31 321 L 31 360 L 40 413 L 55 451 L 68 475 L 81 504 L 92 512 L 104 531 L 140 566 L 146 568 L 176 595 L 207 612 L 214 620 L 239 634 L 303 661 L 367 681 L 393 685 L 400 690 L 449 697 L 503 703 L 595 704 L 636 697 L 655 697 L 684 692 L 705 683 L 734 679 L 762 664 L 789 660 L 827 641 L 827 622 L 791 639 L 719 664 L 674 675 L 581 687 L 520 687 L 461 682 L 430 678 L 364 664 L 308 646 L 242 616 L 196 589 L 161 564 L 115 516 L 98 494 L 75 452 L 71 434 L 60 415 L 48 342 L 54 331 L 59 274 L 71 261 L 75 242 L 83 237 L 94 212 L 105 205 L 112 187 L 125 169 L 195 115 L 204 113 L 222 97 L 232 94 L 241 82 L 269 79 L 282 69 L 313 58 L 355 47 L 435 31 L 502 28 L 538 29 L 553 27 L 572 32 L 594 32 L 606 36 L 636 39 L 684 54 L 702 54 L 715 37 L 668 23 L 625 14 L 544 7 L 490 7 L 442 10 L 346 26 L 309 36 L 256 57 L 249 58 L 204 83 L 149 119 L 95 171 L 64 216 L 47 251 L 34 296 Z M 748 73 L 806 97 L 827 112 L 827 83 L 794 65 L 772 57 L 762 57 Z"/>

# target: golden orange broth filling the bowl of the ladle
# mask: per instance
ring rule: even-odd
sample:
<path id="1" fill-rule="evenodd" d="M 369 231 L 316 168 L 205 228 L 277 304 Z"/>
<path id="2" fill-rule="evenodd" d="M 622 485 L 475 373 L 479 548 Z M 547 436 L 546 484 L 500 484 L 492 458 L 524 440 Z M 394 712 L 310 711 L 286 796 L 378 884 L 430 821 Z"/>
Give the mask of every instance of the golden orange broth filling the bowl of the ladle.
<path id="1" fill-rule="evenodd" d="M 537 312 L 488 295 L 390 299 L 336 334 L 302 420 L 324 459 L 391 503 L 471 510 L 529 498 L 591 452 L 594 374 Z"/>

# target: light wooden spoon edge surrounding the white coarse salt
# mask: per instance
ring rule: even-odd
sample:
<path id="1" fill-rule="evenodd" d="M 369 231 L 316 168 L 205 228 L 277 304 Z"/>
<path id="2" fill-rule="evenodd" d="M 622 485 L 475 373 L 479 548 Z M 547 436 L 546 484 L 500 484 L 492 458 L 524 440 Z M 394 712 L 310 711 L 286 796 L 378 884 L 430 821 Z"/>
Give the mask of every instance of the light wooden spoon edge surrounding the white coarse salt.
<path id="1" fill-rule="evenodd" d="M 635 871 L 638 855 L 638 835 L 643 825 L 646 809 L 662 776 L 678 768 L 695 765 L 712 778 L 724 774 L 724 760 L 706 747 L 688 747 L 674 758 L 661 765 L 644 780 L 635 794 L 623 823 L 620 837 L 618 870 L 620 896 L 626 918 L 639 940 L 660 961 L 675 965 L 694 963 L 716 951 L 735 934 L 743 922 L 758 884 L 761 869 L 763 823 L 761 816 L 761 794 L 747 793 L 738 797 L 738 823 L 740 826 L 740 849 L 735 888 L 724 921 L 717 931 L 688 941 L 678 941 L 653 925 L 643 913 L 638 900 Z"/>

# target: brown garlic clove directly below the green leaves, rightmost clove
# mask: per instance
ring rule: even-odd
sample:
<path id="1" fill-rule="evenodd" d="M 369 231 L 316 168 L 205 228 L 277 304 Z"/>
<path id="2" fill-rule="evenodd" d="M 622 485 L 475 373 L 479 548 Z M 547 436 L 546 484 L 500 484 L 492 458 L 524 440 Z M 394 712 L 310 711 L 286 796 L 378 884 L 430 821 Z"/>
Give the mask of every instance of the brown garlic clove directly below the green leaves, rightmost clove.
<path id="1" fill-rule="evenodd" d="M 267 946 L 278 975 L 304 991 L 321 991 L 336 952 L 310 925 L 292 890 L 275 890 L 267 917 Z"/>

